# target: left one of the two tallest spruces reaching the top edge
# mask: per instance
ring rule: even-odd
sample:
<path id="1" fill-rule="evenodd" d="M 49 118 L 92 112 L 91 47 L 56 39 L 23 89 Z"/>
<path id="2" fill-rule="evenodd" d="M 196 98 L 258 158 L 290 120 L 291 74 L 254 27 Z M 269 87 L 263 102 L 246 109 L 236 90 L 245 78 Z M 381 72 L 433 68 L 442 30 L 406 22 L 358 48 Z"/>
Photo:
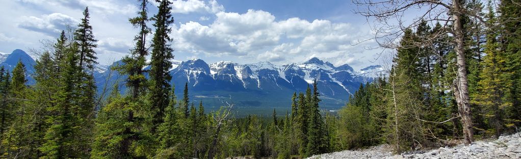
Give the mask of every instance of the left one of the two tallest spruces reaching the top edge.
<path id="1" fill-rule="evenodd" d="M 123 63 L 122 66 L 113 68 L 119 70 L 121 75 L 128 75 L 126 85 L 130 90 L 129 96 L 131 97 L 130 99 L 125 99 L 130 100 L 129 103 L 122 105 L 128 107 L 123 107 L 123 109 L 126 110 L 124 112 L 127 113 L 127 117 L 122 119 L 126 120 L 127 124 L 125 125 L 125 131 L 122 131 L 122 135 L 120 136 L 123 138 L 120 143 L 121 156 L 131 156 L 131 146 L 134 144 L 134 142 L 137 142 L 136 140 L 138 139 L 147 138 L 145 137 L 146 133 L 143 133 L 143 131 L 146 130 L 137 129 L 140 127 L 139 124 L 143 123 L 144 119 L 146 118 L 140 117 L 139 115 L 146 114 L 148 111 L 143 107 L 143 103 L 140 102 L 146 91 L 146 78 L 144 75 L 145 70 L 143 70 L 143 68 L 146 66 L 145 58 L 148 55 L 148 48 L 146 48 L 145 42 L 146 36 L 151 32 L 151 29 L 146 25 L 146 22 L 149 21 L 147 16 L 147 4 L 147 0 L 140 0 L 138 5 L 140 8 L 140 11 L 138 11 L 138 16 L 129 19 L 129 22 L 134 28 L 140 29 L 139 33 L 134 36 L 135 45 L 134 48 L 130 50 L 131 55 L 125 56 L 121 59 Z M 140 110 L 141 112 L 135 112 L 134 110 Z M 110 109 L 107 111 L 110 111 Z M 138 141 L 138 143 L 143 142 L 145 141 Z"/>

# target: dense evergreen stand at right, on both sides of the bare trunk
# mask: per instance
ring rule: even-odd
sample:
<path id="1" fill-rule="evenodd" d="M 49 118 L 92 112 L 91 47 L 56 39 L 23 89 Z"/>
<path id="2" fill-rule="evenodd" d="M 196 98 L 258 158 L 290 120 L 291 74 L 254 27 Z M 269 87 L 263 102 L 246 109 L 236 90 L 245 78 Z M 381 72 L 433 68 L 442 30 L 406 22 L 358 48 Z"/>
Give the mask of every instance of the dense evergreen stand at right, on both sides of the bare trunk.
<path id="1" fill-rule="evenodd" d="M 513 1 L 483 6 L 465 2 L 486 21 L 463 19 L 469 105 L 474 135 L 498 138 L 521 125 L 521 30 L 512 20 L 521 15 Z M 390 76 L 361 85 L 339 114 L 347 148 L 390 143 L 403 152 L 462 139 L 454 37 L 440 35 L 450 27 L 421 21 L 404 31 Z"/>

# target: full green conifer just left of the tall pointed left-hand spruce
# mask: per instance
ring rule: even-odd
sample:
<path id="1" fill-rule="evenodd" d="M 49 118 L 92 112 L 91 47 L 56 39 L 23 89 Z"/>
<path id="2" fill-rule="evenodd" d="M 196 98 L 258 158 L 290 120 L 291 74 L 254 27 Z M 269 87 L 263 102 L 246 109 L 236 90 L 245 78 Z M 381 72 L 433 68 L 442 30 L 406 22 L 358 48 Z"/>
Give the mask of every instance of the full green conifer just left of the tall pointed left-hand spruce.
<path id="1" fill-rule="evenodd" d="M 81 149 L 88 142 L 81 138 L 80 124 L 83 116 L 81 106 L 78 105 L 78 80 L 80 67 L 77 65 L 79 56 L 78 45 L 67 48 L 64 63 L 60 64 L 60 78 L 56 83 L 58 91 L 54 94 L 56 102 L 47 107 L 49 116 L 45 120 L 49 128 L 45 132 L 45 143 L 39 148 L 43 152 L 42 158 L 80 158 L 86 152 Z"/>

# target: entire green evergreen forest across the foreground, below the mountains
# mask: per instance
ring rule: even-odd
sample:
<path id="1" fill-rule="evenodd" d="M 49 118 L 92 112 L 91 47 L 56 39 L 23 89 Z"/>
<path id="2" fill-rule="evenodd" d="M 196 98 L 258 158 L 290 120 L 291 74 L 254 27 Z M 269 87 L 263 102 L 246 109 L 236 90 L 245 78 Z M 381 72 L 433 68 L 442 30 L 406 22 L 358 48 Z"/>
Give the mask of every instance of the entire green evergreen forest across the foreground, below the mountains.
<path id="1" fill-rule="evenodd" d="M 35 84 L 27 84 L 31 66 L 0 68 L 0 158 L 304 158 L 386 143 L 401 153 L 518 132 L 519 2 L 457 2 L 466 10 L 458 13 L 461 35 L 451 34 L 454 23 L 432 19 L 404 29 L 389 74 L 361 84 L 340 111 L 320 108 L 315 80 L 288 99 L 289 111 L 242 118 L 233 101 L 205 113 L 204 102 L 189 99 L 188 85 L 170 84 L 167 0 L 156 0 L 153 16 L 150 2 L 140 0 L 129 19 L 139 30 L 134 48 L 111 68 L 128 75 L 125 93 L 118 84 L 96 93 L 97 40 L 87 7 L 77 26 L 40 51 L 29 75 Z M 458 99 L 462 91 L 467 101 Z"/>

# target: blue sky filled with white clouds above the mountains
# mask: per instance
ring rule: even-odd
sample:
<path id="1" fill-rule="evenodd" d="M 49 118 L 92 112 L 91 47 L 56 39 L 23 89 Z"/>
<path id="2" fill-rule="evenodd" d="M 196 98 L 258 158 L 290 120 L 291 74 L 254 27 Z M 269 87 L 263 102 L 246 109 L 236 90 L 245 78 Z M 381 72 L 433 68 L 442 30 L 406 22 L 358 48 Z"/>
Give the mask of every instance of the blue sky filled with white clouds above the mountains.
<path id="1" fill-rule="evenodd" d="M 382 50 L 365 18 L 353 13 L 351 1 L 223 0 L 172 1 L 172 47 L 176 60 L 201 58 L 207 63 L 269 61 L 300 63 L 319 57 L 355 69 L 378 64 Z M 132 48 L 134 0 L 9 0 L 0 6 L 0 52 L 41 48 L 56 39 L 65 25 L 76 26 L 89 6 L 98 61 L 110 64 Z M 152 16 L 156 3 L 148 8 Z M 152 35 L 149 39 L 151 39 Z"/>

